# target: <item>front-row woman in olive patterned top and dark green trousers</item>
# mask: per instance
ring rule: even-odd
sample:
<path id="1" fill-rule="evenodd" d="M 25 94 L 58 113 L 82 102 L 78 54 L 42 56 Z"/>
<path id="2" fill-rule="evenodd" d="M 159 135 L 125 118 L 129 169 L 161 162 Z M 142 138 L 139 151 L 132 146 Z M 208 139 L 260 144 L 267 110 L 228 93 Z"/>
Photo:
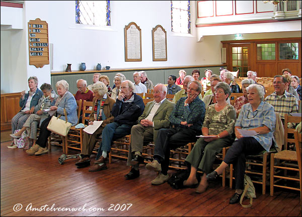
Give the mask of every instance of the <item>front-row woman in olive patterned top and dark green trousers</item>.
<path id="1" fill-rule="evenodd" d="M 228 84 L 219 82 L 215 86 L 216 103 L 206 108 L 201 129 L 204 137 L 197 140 L 186 158 L 186 162 L 191 165 L 191 172 L 184 185 L 197 184 L 196 172 L 203 171 L 197 193 L 204 192 L 208 186 L 206 174 L 212 170 L 216 154 L 220 153 L 223 147 L 228 147 L 234 142 L 236 112 L 233 105 L 226 101 L 230 94 L 231 88 Z"/>

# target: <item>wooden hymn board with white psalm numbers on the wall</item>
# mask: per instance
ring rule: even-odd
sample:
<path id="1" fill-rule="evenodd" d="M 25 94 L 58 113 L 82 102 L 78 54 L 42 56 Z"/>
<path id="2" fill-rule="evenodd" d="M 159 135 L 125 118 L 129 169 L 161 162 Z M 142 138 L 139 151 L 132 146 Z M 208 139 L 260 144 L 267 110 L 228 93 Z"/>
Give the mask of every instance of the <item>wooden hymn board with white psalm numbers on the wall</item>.
<path id="1" fill-rule="evenodd" d="M 28 22 L 29 64 L 42 68 L 49 64 L 48 24 L 39 18 Z"/>

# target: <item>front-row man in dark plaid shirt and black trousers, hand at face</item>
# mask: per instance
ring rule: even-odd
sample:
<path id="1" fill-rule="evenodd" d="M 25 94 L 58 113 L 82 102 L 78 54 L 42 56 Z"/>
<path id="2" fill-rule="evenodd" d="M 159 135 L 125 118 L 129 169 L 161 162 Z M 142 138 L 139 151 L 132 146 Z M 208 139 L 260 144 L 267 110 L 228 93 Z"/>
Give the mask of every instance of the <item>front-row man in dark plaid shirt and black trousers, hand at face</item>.
<path id="1" fill-rule="evenodd" d="M 201 126 L 205 115 L 204 102 L 198 98 L 202 90 L 198 81 L 191 81 L 187 89 L 187 97 L 178 100 L 169 120 L 174 128 L 159 130 L 154 150 L 154 160 L 146 165 L 146 169 L 160 172 L 151 182 L 159 185 L 169 179 L 168 168 L 170 149 L 175 149 L 196 142 L 201 134 Z"/>

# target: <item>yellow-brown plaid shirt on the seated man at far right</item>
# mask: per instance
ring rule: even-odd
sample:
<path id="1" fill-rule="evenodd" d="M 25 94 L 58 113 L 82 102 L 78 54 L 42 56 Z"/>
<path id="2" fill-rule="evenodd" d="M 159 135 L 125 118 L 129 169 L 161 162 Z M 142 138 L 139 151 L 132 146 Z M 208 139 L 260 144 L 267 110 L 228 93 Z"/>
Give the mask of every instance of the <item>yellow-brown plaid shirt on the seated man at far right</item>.
<path id="1" fill-rule="evenodd" d="M 284 94 L 278 96 L 276 92 L 266 96 L 265 101 L 274 107 L 275 113 L 279 113 L 284 121 L 285 114 L 298 112 L 298 101 L 294 95 L 284 91 Z M 284 124 L 284 123 L 283 123 Z"/>

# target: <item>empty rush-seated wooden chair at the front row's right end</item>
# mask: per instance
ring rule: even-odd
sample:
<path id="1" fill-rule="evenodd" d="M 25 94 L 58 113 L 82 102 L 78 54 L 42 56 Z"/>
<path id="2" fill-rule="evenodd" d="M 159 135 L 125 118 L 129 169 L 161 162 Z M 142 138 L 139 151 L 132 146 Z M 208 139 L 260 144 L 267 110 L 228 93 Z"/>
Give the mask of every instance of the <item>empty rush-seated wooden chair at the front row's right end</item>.
<path id="1" fill-rule="evenodd" d="M 274 195 L 274 187 L 280 187 L 291 190 L 300 191 L 301 195 L 301 134 L 298 135 L 297 131 L 293 132 L 296 136 L 295 142 L 297 142 L 296 151 L 283 150 L 276 154 L 271 155 L 271 167 L 270 167 L 270 195 Z M 299 162 L 298 162 L 299 159 Z M 276 160 L 276 161 L 275 161 Z M 294 171 L 299 173 L 299 178 L 296 176 L 289 175 L 289 171 Z M 293 172 L 293 173 L 294 173 Z M 276 179 L 275 179 L 276 178 Z M 280 182 L 283 181 L 283 182 Z M 294 183 L 290 181 L 299 182 L 299 188 L 294 186 Z M 278 184 L 277 184 L 278 183 Z"/>

